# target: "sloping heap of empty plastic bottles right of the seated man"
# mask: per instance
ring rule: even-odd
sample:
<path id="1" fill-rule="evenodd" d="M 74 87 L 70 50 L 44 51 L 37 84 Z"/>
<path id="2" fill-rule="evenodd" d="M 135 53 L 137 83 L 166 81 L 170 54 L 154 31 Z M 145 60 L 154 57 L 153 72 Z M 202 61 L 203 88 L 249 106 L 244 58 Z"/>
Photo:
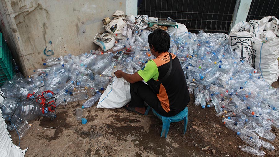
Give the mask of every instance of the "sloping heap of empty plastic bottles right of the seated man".
<path id="1" fill-rule="evenodd" d="M 279 129 L 279 89 L 240 60 L 225 34 L 175 34 L 174 29 L 170 36 L 170 52 L 181 61 L 195 105 L 215 107 L 216 116 L 223 117 L 225 126 L 251 146 L 239 146 L 241 150 L 258 156 L 265 154 L 259 150 L 261 146 L 274 150 L 259 136 L 275 139 L 271 126 Z"/>

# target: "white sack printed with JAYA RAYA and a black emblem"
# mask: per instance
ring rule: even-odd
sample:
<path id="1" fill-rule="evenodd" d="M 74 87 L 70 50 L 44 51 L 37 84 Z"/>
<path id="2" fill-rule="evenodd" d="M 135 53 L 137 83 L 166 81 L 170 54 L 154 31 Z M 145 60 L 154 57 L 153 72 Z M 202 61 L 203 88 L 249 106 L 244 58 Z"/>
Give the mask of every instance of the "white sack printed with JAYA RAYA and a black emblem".
<path id="1" fill-rule="evenodd" d="M 252 49 L 253 34 L 246 31 L 248 28 L 249 27 L 246 22 L 236 24 L 229 34 L 231 37 L 230 44 L 232 46 L 232 50 L 240 55 L 240 60 L 246 60 L 248 63 L 253 65 L 253 58 L 255 57 Z"/>

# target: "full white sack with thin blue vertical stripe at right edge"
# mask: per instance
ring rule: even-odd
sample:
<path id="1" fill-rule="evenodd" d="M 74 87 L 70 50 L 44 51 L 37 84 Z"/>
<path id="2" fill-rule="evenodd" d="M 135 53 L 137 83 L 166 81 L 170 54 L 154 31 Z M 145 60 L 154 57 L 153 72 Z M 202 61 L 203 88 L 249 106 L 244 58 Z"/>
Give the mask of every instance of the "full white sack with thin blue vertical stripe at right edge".
<path id="1" fill-rule="evenodd" d="M 271 85 L 277 81 L 279 76 L 277 60 L 279 57 L 279 39 L 267 38 L 267 41 L 262 42 L 262 40 L 254 38 L 253 49 L 255 50 L 255 69 L 258 69 L 261 77 Z"/>

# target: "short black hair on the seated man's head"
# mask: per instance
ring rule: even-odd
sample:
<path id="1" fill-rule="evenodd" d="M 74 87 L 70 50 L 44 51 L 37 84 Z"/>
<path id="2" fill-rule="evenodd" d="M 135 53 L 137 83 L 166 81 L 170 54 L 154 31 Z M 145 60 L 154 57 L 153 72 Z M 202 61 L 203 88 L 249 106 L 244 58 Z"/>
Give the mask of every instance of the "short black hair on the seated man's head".
<path id="1" fill-rule="evenodd" d="M 148 35 L 148 43 L 158 53 L 167 52 L 170 49 L 170 35 L 162 29 L 156 29 Z"/>

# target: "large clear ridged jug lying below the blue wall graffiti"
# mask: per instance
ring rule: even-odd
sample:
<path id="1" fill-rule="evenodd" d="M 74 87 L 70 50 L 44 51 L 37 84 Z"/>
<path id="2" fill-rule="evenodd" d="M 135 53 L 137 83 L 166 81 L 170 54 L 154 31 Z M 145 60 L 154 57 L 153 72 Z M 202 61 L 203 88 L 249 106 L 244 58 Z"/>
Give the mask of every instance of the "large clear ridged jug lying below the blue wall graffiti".
<path id="1" fill-rule="evenodd" d="M 54 93 L 58 93 L 65 87 L 66 81 L 69 77 L 68 68 L 64 65 L 55 65 L 51 67 L 48 76 L 45 80 L 45 88 Z"/>

